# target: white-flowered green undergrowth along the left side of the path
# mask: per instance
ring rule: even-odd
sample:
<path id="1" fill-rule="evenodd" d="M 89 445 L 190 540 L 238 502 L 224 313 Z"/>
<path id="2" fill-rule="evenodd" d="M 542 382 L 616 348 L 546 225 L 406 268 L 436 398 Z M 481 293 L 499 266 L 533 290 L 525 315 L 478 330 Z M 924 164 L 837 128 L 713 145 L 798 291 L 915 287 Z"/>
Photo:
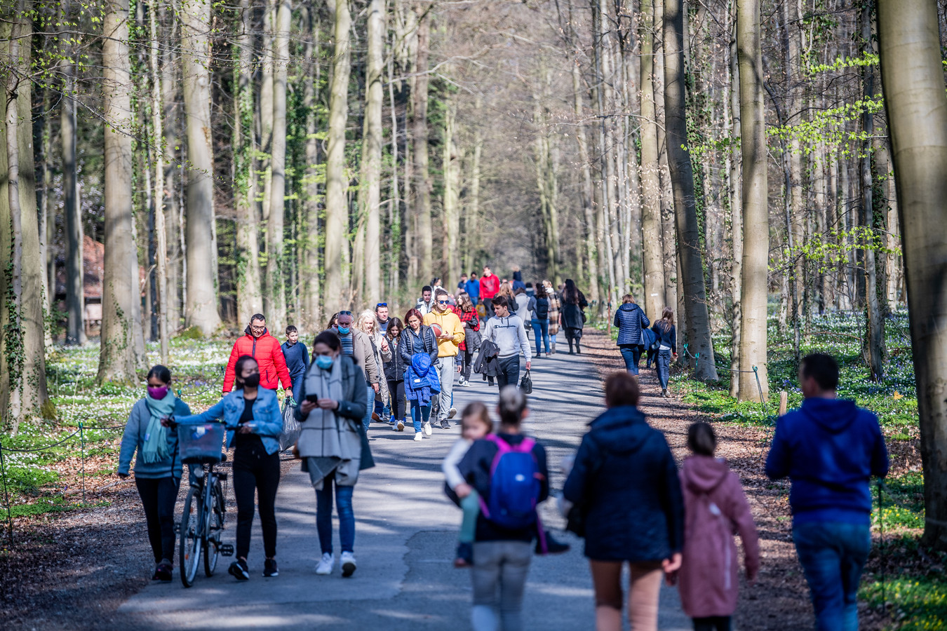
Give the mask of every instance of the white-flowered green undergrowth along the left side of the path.
<path id="1" fill-rule="evenodd" d="M 195 412 L 220 400 L 223 367 L 232 343 L 188 336 L 171 341 L 174 390 Z M 156 345 L 148 345 L 152 364 L 159 362 L 157 351 Z M 147 371 L 139 373 L 134 386 L 99 386 L 97 371 L 98 343 L 58 347 L 49 355 L 46 383 L 57 418 L 23 424 L 15 437 L 9 433 L 0 437 L 5 473 L 5 488 L 0 491 L 6 491 L 6 496 L 0 496 L 0 521 L 8 517 L 7 497 L 13 518 L 99 505 L 81 503 L 82 459 L 87 492 L 115 474 L 122 429 L 134 402 L 145 395 Z M 77 433 L 80 424 L 82 431 Z"/>

